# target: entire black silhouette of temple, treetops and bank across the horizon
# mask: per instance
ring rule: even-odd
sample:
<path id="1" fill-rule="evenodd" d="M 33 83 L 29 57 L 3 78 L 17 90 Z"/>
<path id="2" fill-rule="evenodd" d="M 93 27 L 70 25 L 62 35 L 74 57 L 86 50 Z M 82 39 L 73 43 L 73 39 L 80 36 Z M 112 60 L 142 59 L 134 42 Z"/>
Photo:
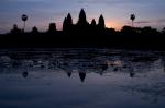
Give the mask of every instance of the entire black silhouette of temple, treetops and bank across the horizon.
<path id="1" fill-rule="evenodd" d="M 0 35 L 0 47 L 108 47 L 131 49 L 165 50 L 165 28 L 158 32 L 151 26 L 123 26 L 121 31 L 107 28 L 105 17 L 87 21 L 86 12 L 80 10 L 78 21 L 74 24 L 68 13 L 63 22 L 63 31 L 57 31 L 56 23 L 50 23 L 46 32 L 38 32 L 34 26 L 24 32 L 16 24 L 8 34 Z"/>

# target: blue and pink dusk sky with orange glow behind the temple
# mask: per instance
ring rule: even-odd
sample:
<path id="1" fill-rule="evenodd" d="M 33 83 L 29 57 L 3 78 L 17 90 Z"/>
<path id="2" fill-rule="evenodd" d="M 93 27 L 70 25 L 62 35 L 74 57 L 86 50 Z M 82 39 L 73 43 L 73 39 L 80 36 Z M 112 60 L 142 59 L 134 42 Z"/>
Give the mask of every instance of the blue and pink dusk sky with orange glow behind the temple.
<path id="1" fill-rule="evenodd" d="M 135 14 L 134 26 L 152 26 L 158 29 L 165 27 L 165 0 L 0 0 L 0 33 L 8 33 L 13 24 L 23 27 L 22 14 L 26 14 L 26 31 L 36 26 L 44 32 L 50 23 L 56 23 L 62 29 L 63 21 L 70 13 L 74 23 L 84 8 L 87 20 L 100 14 L 105 16 L 106 26 L 121 29 L 130 25 L 130 14 Z"/>

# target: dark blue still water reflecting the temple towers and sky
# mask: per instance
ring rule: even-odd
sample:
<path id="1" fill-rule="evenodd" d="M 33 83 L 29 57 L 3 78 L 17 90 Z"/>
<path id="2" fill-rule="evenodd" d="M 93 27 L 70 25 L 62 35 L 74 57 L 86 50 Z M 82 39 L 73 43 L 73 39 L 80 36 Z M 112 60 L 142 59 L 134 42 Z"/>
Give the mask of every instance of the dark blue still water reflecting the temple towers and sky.
<path id="1" fill-rule="evenodd" d="M 1 49 L 0 108 L 165 108 L 165 52 Z"/>

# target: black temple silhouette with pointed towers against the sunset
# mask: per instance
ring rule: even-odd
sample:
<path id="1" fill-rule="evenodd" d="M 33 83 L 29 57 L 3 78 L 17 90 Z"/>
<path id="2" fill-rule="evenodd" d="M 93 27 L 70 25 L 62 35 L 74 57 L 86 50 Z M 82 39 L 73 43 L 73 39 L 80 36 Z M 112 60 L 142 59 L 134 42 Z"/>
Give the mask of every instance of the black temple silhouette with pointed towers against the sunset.
<path id="1" fill-rule="evenodd" d="M 103 15 L 101 14 L 96 23 L 95 19 L 89 23 L 86 17 L 86 12 L 84 9 L 80 10 L 78 22 L 76 24 L 73 23 L 73 17 L 70 13 L 64 19 L 63 23 L 63 32 L 65 35 L 101 35 L 100 33 L 106 32 L 106 24 Z"/>

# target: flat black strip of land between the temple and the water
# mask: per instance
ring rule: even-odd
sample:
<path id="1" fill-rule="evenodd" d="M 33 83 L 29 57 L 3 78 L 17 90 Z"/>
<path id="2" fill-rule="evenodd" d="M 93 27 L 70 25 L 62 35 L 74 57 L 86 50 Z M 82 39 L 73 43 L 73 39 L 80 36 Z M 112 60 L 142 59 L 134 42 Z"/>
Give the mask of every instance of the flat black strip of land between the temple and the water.
<path id="1" fill-rule="evenodd" d="M 0 35 L 0 48 L 118 48 L 165 50 L 164 34 L 64 35 L 9 34 Z"/>

